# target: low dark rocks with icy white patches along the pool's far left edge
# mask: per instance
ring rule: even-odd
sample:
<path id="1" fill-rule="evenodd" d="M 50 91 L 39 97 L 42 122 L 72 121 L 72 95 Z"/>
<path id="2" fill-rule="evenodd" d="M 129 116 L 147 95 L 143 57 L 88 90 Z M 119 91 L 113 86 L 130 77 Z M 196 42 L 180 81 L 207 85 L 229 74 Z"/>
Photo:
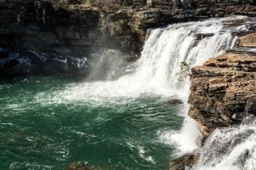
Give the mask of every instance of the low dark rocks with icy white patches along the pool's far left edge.
<path id="1" fill-rule="evenodd" d="M 25 55 L 0 48 L 0 75 L 83 73 L 88 68 L 86 58 L 59 56 L 28 51 Z"/>

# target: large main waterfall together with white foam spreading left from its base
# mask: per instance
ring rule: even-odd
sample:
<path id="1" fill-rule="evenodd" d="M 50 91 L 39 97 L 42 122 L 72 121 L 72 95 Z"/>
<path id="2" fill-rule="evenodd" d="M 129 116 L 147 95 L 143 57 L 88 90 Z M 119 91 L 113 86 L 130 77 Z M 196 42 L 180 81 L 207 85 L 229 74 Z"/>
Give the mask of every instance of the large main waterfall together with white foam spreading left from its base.
<path id="1" fill-rule="evenodd" d="M 247 31 L 249 27 L 229 27 L 223 22 L 224 19 L 212 19 L 152 30 L 143 47 L 142 57 L 128 66 L 130 74 L 116 81 L 84 82 L 68 88 L 64 97 L 134 98 L 142 94 L 156 94 L 186 99 L 189 95 L 189 70 L 222 54 L 224 49 L 232 48 L 236 40 L 232 34 Z"/>

